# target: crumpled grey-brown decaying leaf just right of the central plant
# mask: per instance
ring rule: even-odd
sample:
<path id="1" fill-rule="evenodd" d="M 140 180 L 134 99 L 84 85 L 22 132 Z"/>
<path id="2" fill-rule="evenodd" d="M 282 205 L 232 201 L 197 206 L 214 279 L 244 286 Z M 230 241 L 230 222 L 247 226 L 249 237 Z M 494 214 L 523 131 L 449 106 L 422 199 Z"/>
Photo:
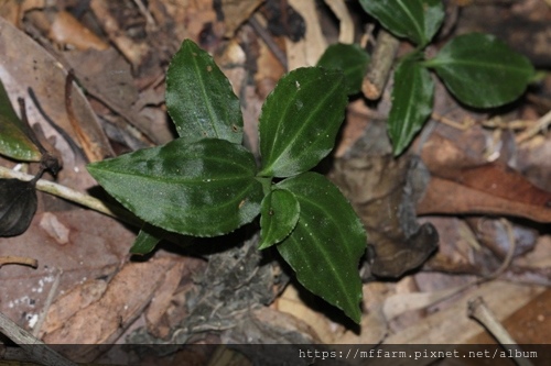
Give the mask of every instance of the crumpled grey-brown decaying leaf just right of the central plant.
<path id="1" fill-rule="evenodd" d="M 359 142 L 358 142 L 359 143 Z M 350 200 L 375 249 L 371 274 L 400 277 L 434 252 L 439 236 L 430 223 L 419 225 L 417 200 L 429 179 L 417 157 L 361 154 L 335 162 L 332 179 Z"/>

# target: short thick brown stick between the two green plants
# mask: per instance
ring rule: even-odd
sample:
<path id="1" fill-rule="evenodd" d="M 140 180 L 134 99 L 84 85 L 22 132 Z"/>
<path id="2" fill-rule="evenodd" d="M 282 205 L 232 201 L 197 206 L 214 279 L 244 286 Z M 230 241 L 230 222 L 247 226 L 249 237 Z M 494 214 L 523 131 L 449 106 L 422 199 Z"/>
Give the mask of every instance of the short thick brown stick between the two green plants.
<path id="1" fill-rule="evenodd" d="M 377 45 L 361 84 L 361 91 L 367 99 L 377 100 L 380 98 L 387 85 L 399 45 L 400 41 L 393 35 L 385 30 L 379 31 Z"/>

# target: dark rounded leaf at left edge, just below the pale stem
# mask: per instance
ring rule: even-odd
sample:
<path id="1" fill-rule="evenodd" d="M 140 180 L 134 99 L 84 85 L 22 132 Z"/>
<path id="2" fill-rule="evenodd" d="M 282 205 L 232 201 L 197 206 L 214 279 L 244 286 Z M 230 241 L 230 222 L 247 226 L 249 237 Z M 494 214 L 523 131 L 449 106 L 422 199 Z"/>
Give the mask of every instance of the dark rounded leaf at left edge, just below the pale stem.
<path id="1" fill-rule="evenodd" d="M 0 236 L 25 232 L 36 211 L 34 182 L 0 179 Z"/>

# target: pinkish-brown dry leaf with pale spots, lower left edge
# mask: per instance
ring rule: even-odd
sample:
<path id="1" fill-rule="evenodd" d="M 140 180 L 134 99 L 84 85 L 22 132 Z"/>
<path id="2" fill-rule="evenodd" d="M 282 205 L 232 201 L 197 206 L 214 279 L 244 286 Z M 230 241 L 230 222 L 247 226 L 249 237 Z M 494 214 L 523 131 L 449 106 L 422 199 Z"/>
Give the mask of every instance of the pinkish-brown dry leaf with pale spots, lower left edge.
<path id="1" fill-rule="evenodd" d="M 67 230 L 68 242 L 60 243 L 50 224 L 46 229 L 40 224 L 46 221 L 50 224 L 55 221 L 55 225 Z M 39 260 L 36 269 L 2 267 L 0 311 L 20 326 L 33 329 L 36 318 L 47 310 L 46 298 L 60 271 L 63 271 L 58 287 L 62 293 L 89 279 L 107 278 L 127 255 L 134 236 L 122 224 L 94 211 L 37 213 L 24 234 L 0 239 L 0 256 L 18 255 Z M 74 307 L 79 307 L 82 301 Z"/>

